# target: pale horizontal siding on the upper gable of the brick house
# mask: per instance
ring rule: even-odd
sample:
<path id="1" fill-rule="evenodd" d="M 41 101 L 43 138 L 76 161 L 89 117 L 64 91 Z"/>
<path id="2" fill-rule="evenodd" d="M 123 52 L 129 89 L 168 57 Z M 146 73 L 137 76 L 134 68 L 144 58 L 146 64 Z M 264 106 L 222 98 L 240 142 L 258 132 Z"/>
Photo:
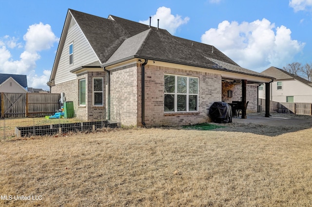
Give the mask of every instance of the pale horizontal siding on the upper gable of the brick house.
<path id="1" fill-rule="evenodd" d="M 74 64 L 69 65 L 68 47 L 74 42 Z M 73 24 L 68 30 L 66 40 L 59 59 L 57 73 L 55 75 L 55 83 L 63 83 L 65 81 L 76 79 L 76 74 L 70 70 L 80 66 L 98 61 L 98 57 L 92 50 L 89 42 L 81 32 L 78 24 Z"/>

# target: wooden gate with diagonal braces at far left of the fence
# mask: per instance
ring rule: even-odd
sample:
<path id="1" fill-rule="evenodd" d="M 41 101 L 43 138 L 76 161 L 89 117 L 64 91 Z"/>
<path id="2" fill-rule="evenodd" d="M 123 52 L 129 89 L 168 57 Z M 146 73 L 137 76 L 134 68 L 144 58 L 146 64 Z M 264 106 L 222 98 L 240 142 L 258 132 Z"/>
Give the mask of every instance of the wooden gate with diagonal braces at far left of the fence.
<path id="1" fill-rule="evenodd" d="M 1 92 L 1 117 L 25 117 L 26 93 Z"/>

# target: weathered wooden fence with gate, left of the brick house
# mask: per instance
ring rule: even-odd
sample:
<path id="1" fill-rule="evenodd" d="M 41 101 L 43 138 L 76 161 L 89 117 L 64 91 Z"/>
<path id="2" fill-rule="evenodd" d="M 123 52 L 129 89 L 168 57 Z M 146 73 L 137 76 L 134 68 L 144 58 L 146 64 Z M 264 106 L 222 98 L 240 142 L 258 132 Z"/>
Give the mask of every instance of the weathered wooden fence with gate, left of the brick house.
<path id="1" fill-rule="evenodd" d="M 58 93 L 1 92 L 1 118 L 38 117 L 51 115 L 59 109 Z"/>

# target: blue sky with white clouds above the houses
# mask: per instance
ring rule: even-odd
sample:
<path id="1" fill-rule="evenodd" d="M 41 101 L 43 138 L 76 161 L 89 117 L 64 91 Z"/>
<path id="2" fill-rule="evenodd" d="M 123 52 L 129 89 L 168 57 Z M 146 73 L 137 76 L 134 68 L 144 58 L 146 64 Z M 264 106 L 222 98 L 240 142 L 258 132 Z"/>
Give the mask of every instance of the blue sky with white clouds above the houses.
<path id="1" fill-rule="evenodd" d="M 0 73 L 27 75 L 49 89 L 68 8 L 114 15 L 214 45 L 241 67 L 261 72 L 312 63 L 312 0 L 0 0 Z"/>

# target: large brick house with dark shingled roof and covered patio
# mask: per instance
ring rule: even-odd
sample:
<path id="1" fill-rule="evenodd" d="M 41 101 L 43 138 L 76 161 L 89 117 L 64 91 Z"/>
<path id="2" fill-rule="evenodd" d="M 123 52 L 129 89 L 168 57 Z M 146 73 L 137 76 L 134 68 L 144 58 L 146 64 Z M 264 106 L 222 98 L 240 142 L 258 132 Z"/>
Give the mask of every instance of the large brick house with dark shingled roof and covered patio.
<path id="1" fill-rule="evenodd" d="M 256 102 L 257 86 L 271 80 L 214 46 L 69 9 L 48 85 L 73 101 L 79 119 L 151 126 L 210 121 L 214 102 L 246 103 L 249 86 Z"/>

